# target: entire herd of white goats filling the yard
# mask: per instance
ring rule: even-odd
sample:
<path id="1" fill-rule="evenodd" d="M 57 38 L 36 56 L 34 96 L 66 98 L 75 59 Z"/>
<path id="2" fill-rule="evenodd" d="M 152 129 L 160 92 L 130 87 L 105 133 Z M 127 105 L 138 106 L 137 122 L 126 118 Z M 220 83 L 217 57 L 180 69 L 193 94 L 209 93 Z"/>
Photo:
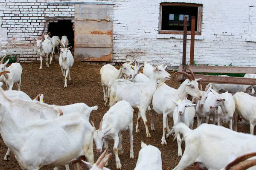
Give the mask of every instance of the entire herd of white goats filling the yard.
<path id="1" fill-rule="evenodd" d="M 45 40 L 37 40 L 41 57 L 40 69 L 42 56 L 48 55 L 44 44 L 53 46 L 47 36 L 49 37 L 49 33 L 43 38 Z M 69 50 L 71 47 L 67 48 L 67 40 L 59 42 L 59 64 L 66 88 L 67 76 L 70 79 L 70 68 L 74 60 Z M 50 47 L 50 51 L 53 54 L 54 49 Z M 195 79 L 191 70 L 191 74 L 175 73 L 184 74 L 188 78 L 175 89 L 164 83 L 172 78 L 165 71 L 165 64 L 153 67 L 145 60 L 143 74 L 138 74 L 143 65 L 138 65 L 135 61 L 124 64 L 119 62 L 119 70 L 107 64 L 101 68 L 100 74 L 105 106 L 109 101 L 110 109 L 96 130 L 93 122 L 89 122 L 89 118 L 91 111 L 97 110 L 98 106 L 89 107 L 84 103 L 48 105 L 44 103 L 43 95 L 38 95 L 33 101 L 20 91 L 22 67 L 18 63 L 13 63 L 7 68 L 8 62 L 3 63 L 2 59 L 0 63 L 1 82 L 9 89 L 3 91 L 0 88 L 0 133 L 9 148 L 4 159 L 8 160 L 12 151 L 23 170 L 39 170 L 44 166 L 55 167 L 54 170 L 58 170 L 58 166 L 61 165 L 65 165 L 66 170 L 69 170 L 69 163 L 74 164 L 75 170 L 81 170 L 82 162 L 91 170 L 108 170 L 105 166 L 111 158 L 111 153 L 108 154 L 108 142 L 111 139 L 114 140 L 116 168 L 121 169 L 119 155 L 123 154 L 121 132 L 124 130 L 129 131 L 130 158 L 134 159 L 134 108 L 139 110 L 136 132 L 140 132 L 139 122 L 142 118 L 147 137 L 151 137 L 151 134 L 148 130 L 146 111 L 151 111 L 151 131 L 155 130 L 154 112 L 163 115 L 161 144 L 167 144 L 166 137 L 174 135 L 178 144 L 177 155 L 182 156 L 174 170 L 184 170 L 193 163 L 195 168 L 212 170 L 245 170 L 256 165 L 256 160 L 246 160 L 256 156 L 256 153 L 252 153 L 256 152 L 256 145 L 253 143 L 256 140 L 253 136 L 256 124 L 256 98 L 244 93 L 245 90 L 236 91 L 237 93 L 232 96 L 225 85 L 217 89 L 218 85 L 209 84 L 205 91 L 202 88 L 200 91 L 197 82 L 199 79 Z M 15 83 L 18 91 L 12 90 Z M 254 86 L 245 89 L 251 87 Z M 234 87 L 230 89 L 234 90 Z M 226 92 L 218 94 L 221 90 Z M 193 102 L 186 98 L 187 94 L 193 97 Z M 197 128 L 192 130 L 195 114 L 198 120 Z M 214 125 L 208 124 L 210 116 L 213 117 Z M 218 116 L 218 126 L 215 125 L 215 116 Z M 251 134 L 236 132 L 238 116 L 250 122 Z M 173 117 L 172 130 L 169 128 L 168 117 Z M 230 129 L 221 126 L 223 121 L 229 122 Z M 95 164 L 93 141 L 98 153 L 102 152 L 103 143 L 105 148 Z M 186 142 L 183 155 L 180 147 L 182 141 Z M 135 170 L 162 170 L 160 150 L 143 142 L 141 147 Z M 88 162 L 84 161 L 85 158 Z"/>

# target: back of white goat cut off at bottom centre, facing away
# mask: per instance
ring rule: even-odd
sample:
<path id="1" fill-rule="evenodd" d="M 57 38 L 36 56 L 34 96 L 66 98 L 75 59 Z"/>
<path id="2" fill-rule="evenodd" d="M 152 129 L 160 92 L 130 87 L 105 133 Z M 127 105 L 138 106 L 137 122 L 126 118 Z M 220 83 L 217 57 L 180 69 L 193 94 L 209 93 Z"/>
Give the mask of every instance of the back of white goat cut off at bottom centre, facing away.
<path id="1" fill-rule="evenodd" d="M 162 170 L 161 152 L 157 147 L 141 142 L 138 161 L 134 170 Z"/>

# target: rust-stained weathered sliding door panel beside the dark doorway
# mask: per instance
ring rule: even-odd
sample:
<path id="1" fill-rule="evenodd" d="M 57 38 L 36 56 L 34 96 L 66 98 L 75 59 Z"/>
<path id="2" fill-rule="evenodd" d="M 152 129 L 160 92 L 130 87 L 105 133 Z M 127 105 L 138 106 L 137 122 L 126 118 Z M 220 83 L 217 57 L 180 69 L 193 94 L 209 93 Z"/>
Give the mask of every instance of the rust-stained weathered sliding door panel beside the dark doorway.
<path id="1" fill-rule="evenodd" d="M 112 61 L 113 5 L 75 5 L 74 57 L 81 61 Z"/>

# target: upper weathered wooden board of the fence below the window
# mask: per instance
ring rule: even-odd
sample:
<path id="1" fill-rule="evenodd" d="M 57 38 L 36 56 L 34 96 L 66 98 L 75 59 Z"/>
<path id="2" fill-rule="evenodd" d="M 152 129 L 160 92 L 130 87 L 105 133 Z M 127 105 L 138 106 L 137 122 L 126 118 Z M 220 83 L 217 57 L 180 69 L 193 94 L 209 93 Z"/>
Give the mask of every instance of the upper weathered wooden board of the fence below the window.
<path id="1" fill-rule="evenodd" d="M 229 66 L 193 66 L 188 65 L 193 73 L 253 73 L 256 74 L 256 67 L 229 67 Z M 186 69 L 189 73 L 189 70 Z"/>

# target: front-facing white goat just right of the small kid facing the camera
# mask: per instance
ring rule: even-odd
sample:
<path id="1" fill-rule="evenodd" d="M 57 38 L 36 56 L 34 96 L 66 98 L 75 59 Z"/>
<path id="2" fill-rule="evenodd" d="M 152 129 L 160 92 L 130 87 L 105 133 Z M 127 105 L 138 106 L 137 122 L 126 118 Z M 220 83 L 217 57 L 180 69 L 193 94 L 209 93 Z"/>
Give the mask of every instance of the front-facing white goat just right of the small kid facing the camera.
<path id="1" fill-rule="evenodd" d="M 207 88 L 205 91 L 202 89 L 201 85 L 201 91 L 202 91 L 202 98 L 197 102 L 195 113 L 197 114 L 197 127 L 204 123 L 204 119 L 206 118 L 206 123 L 209 123 L 209 116 L 212 116 L 213 118 L 213 125 L 215 125 L 215 116 L 216 116 L 216 109 L 212 108 L 210 109 L 210 104 L 212 102 L 212 98 L 214 94 L 210 91 L 211 85 L 209 86 L 208 90 Z"/>

